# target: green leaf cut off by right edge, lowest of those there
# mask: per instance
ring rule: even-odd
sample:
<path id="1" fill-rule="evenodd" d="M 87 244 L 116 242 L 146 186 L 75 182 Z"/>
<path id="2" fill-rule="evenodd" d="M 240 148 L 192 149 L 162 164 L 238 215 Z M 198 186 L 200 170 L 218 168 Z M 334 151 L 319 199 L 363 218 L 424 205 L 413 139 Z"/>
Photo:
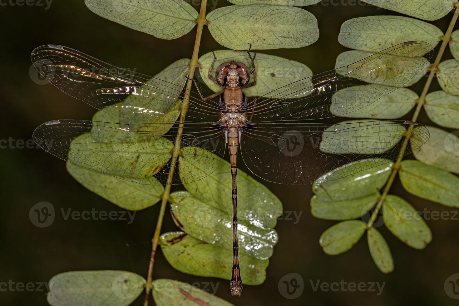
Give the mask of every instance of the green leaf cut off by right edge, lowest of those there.
<path id="1" fill-rule="evenodd" d="M 402 161 L 400 181 L 403 188 L 420 198 L 450 207 L 459 207 L 459 178 L 420 161 Z"/>

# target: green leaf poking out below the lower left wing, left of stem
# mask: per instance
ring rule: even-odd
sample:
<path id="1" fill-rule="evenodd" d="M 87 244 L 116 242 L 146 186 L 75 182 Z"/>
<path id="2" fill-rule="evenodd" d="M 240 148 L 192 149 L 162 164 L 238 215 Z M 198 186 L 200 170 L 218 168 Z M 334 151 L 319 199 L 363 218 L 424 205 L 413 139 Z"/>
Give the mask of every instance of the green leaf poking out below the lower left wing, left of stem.
<path id="1" fill-rule="evenodd" d="M 66 165 L 67 171 L 78 183 L 113 204 L 130 211 L 138 211 L 156 204 L 161 200 L 164 192 L 164 187 L 159 182 L 153 186 L 143 185 L 75 166 L 69 162 Z"/>

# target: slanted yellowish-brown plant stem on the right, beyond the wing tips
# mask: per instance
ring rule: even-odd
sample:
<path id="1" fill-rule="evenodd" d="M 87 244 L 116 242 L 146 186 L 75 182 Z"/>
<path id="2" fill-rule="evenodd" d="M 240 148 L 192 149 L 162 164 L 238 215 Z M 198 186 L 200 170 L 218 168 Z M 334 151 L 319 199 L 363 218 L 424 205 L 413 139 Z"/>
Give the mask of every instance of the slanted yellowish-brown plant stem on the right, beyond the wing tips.
<path id="1" fill-rule="evenodd" d="M 414 115 L 413 115 L 413 118 L 411 119 L 411 121 L 415 122 L 418 119 L 420 111 L 422 109 L 422 106 L 425 103 L 425 96 L 427 95 L 427 92 L 429 91 L 429 88 L 430 88 L 430 85 L 432 83 L 433 77 L 435 76 L 435 74 L 438 71 L 438 64 L 440 63 L 440 60 L 442 59 L 443 53 L 445 52 L 445 49 L 446 49 L 446 46 L 451 41 L 451 33 L 453 32 L 454 25 L 456 24 L 456 21 L 457 21 L 457 19 L 459 17 L 459 2 L 456 2 L 456 4 L 454 6 L 456 8 L 456 11 L 454 12 L 453 18 L 451 19 L 451 22 L 449 23 L 448 30 L 446 31 L 445 35 L 442 37 L 442 45 L 440 46 L 440 50 L 438 51 L 438 54 L 437 54 L 437 57 L 435 58 L 435 61 L 433 62 L 433 64 L 430 67 L 430 74 L 429 74 L 429 77 L 427 78 L 427 82 L 425 82 L 424 89 L 422 89 L 422 93 L 421 93 L 419 99 L 416 101 L 417 102 L 417 106 L 416 106 L 416 110 L 414 111 Z M 382 203 L 384 203 L 384 201 L 386 200 L 386 196 L 387 196 L 387 194 L 389 193 L 389 190 L 392 187 L 392 184 L 394 182 L 395 177 L 397 176 L 398 169 L 400 169 L 400 164 L 402 163 L 403 156 L 405 155 L 406 148 L 408 147 L 409 139 L 411 138 L 411 136 L 413 136 L 413 129 L 414 129 L 414 127 L 412 125 L 408 128 L 407 134 L 406 134 L 405 138 L 403 139 L 402 148 L 400 149 L 400 152 L 399 152 L 399 154 L 397 156 L 397 161 L 392 166 L 391 175 L 390 175 L 389 179 L 387 180 L 387 184 L 384 187 L 384 190 L 383 190 L 380 198 L 378 199 L 378 202 L 377 202 L 378 204 L 376 205 L 375 210 L 373 211 L 373 214 L 371 215 L 371 217 L 370 217 L 370 219 L 369 219 L 369 221 L 367 223 L 367 228 L 371 228 L 371 226 L 373 225 L 373 223 L 376 220 L 376 216 L 378 215 L 378 212 L 381 209 Z"/>

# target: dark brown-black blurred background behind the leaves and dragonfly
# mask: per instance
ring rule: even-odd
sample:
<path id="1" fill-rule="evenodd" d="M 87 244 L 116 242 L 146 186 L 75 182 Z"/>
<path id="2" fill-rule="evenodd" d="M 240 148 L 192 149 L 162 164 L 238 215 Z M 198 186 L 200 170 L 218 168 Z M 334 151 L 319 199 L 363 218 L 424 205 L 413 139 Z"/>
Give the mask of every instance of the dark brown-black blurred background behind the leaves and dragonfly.
<path id="1" fill-rule="evenodd" d="M 198 1 L 195 1 L 198 2 Z M 210 2 L 210 1 L 209 1 Z M 191 2 L 193 3 L 193 1 Z M 336 56 L 347 50 L 338 43 L 342 22 L 371 15 L 399 15 L 355 1 L 341 0 L 308 6 L 318 19 L 317 42 L 299 49 L 263 50 L 263 53 L 300 61 L 314 73 L 334 67 Z M 212 4 L 212 2 L 211 2 Z M 218 6 L 227 6 L 220 0 Z M 198 6 L 195 6 L 199 9 Z M 453 16 L 449 13 L 432 22 L 443 32 Z M 229 17 L 230 18 L 230 17 Z M 136 68 L 154 75 L 180 58 L 190 58 L 196 28 L 180 39 L 161 40 L 103 19 L 84 5 L 83 0 L 54 0 L 48 10 L 43 6 L 0 6 L 2 29 L 0 58 L 0 139 L 32 137 L 39 124 L 53 119 L 90 120 L 93 108 L 52 85 L 38 85 L 29 75 L 30 52 L 39 45 L 67 45 L 118 67 Z M 456 28 L 458 28 L 456 26 Z M 200 55 L 224 49 L 204 28 Z M 438 46 L 436 51 L 438 50 Z M 449 50 L 443 59 L 451 58 Z M 433 61 L 433 60 L 432 60 Z M 418 93 L 424 80 L 414 88 Z M 431 91 L 437 90 L 434 80 Z M 405 118 L 411 118 L 411 111 Z M 422 113 L 421 123 L 429 124 Z M 65 163 L 44 150 L 2 149 L 0 213 L 0 283 L 47 282 L 62 272 L 78 270 L 127 270 L 146 277 L 151 237 L 159 204 L 137 212 L 134 223 L 126 221 L 73 221 L 57 215 L 47 228 L 37 228 L 28 213 L 41 201 L 52 203 L 56 211 L 120 210 L 118 206 L 78 184 L 66 171 Z M 412 158 L 412 157 L 409 157 Z M 241 166 L 244 170 L 244 167 Z M 267 278 L 260 286 L 245 286 L 241 298 L 229 296 L 227 280 L 204 278 L 174 270 L 161 251 L 155 258 L 154 278 L 173 278 L 183 282 L 218 285 L 217 295 L 236 305 L 457 305 L 445 294 L 443 284 L 459 272 L 456 220 L 427 220 L 433 240 L 425 250 L 414 250 L 380 227 L 395 260 L 393 273 L 381 273 L 369 255 L 366 235 L 348 252 L 327 256 L 319 246 L 320 234 L 336 222 L 311 216 L 310 186 L 284 186 L 263 182 L 276 194 L 286 211 L 302 211 L 297 224 L 280 220 L 276 227 L 280 241 L 270 258 Z M 448 207 L 409 195 L 398 179 L 392 193 L 408 200 L 416 209 L 448 211 Z M 135 196 L 135 195 L 133 195 Z M 451 210 L 453 211 L 453 210 Z M 162 232 L 176 230 L 166 212 Z M 230 259 L 230 256 L 228 258 Z M 278 282 L 288 273 L 299 273 L 304 291 L 295 300 L 285 299 Z M 383 293 L 314 292 L 310 282 L 385 282 Z M 141 305 L 142 294 L 134 305 Z M 1 305 L 47 305 L 44 292 L 0 292 Z M 153 304 L 153 302 L 151 302 Z"/>

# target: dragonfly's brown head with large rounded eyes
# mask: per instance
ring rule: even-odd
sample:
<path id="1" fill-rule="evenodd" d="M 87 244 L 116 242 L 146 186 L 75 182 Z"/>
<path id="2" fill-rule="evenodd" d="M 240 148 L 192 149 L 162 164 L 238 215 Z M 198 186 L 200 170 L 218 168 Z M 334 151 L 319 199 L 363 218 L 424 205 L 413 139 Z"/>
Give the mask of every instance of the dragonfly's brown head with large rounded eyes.
<path id="1" fill-rule="evenodd" d="M 249 83 L 250 69 L 243 63 L 227 61 L 217 67 L 215 79 L 223 87 L 236 82 L 238 86 L 244 86 Z"/>

